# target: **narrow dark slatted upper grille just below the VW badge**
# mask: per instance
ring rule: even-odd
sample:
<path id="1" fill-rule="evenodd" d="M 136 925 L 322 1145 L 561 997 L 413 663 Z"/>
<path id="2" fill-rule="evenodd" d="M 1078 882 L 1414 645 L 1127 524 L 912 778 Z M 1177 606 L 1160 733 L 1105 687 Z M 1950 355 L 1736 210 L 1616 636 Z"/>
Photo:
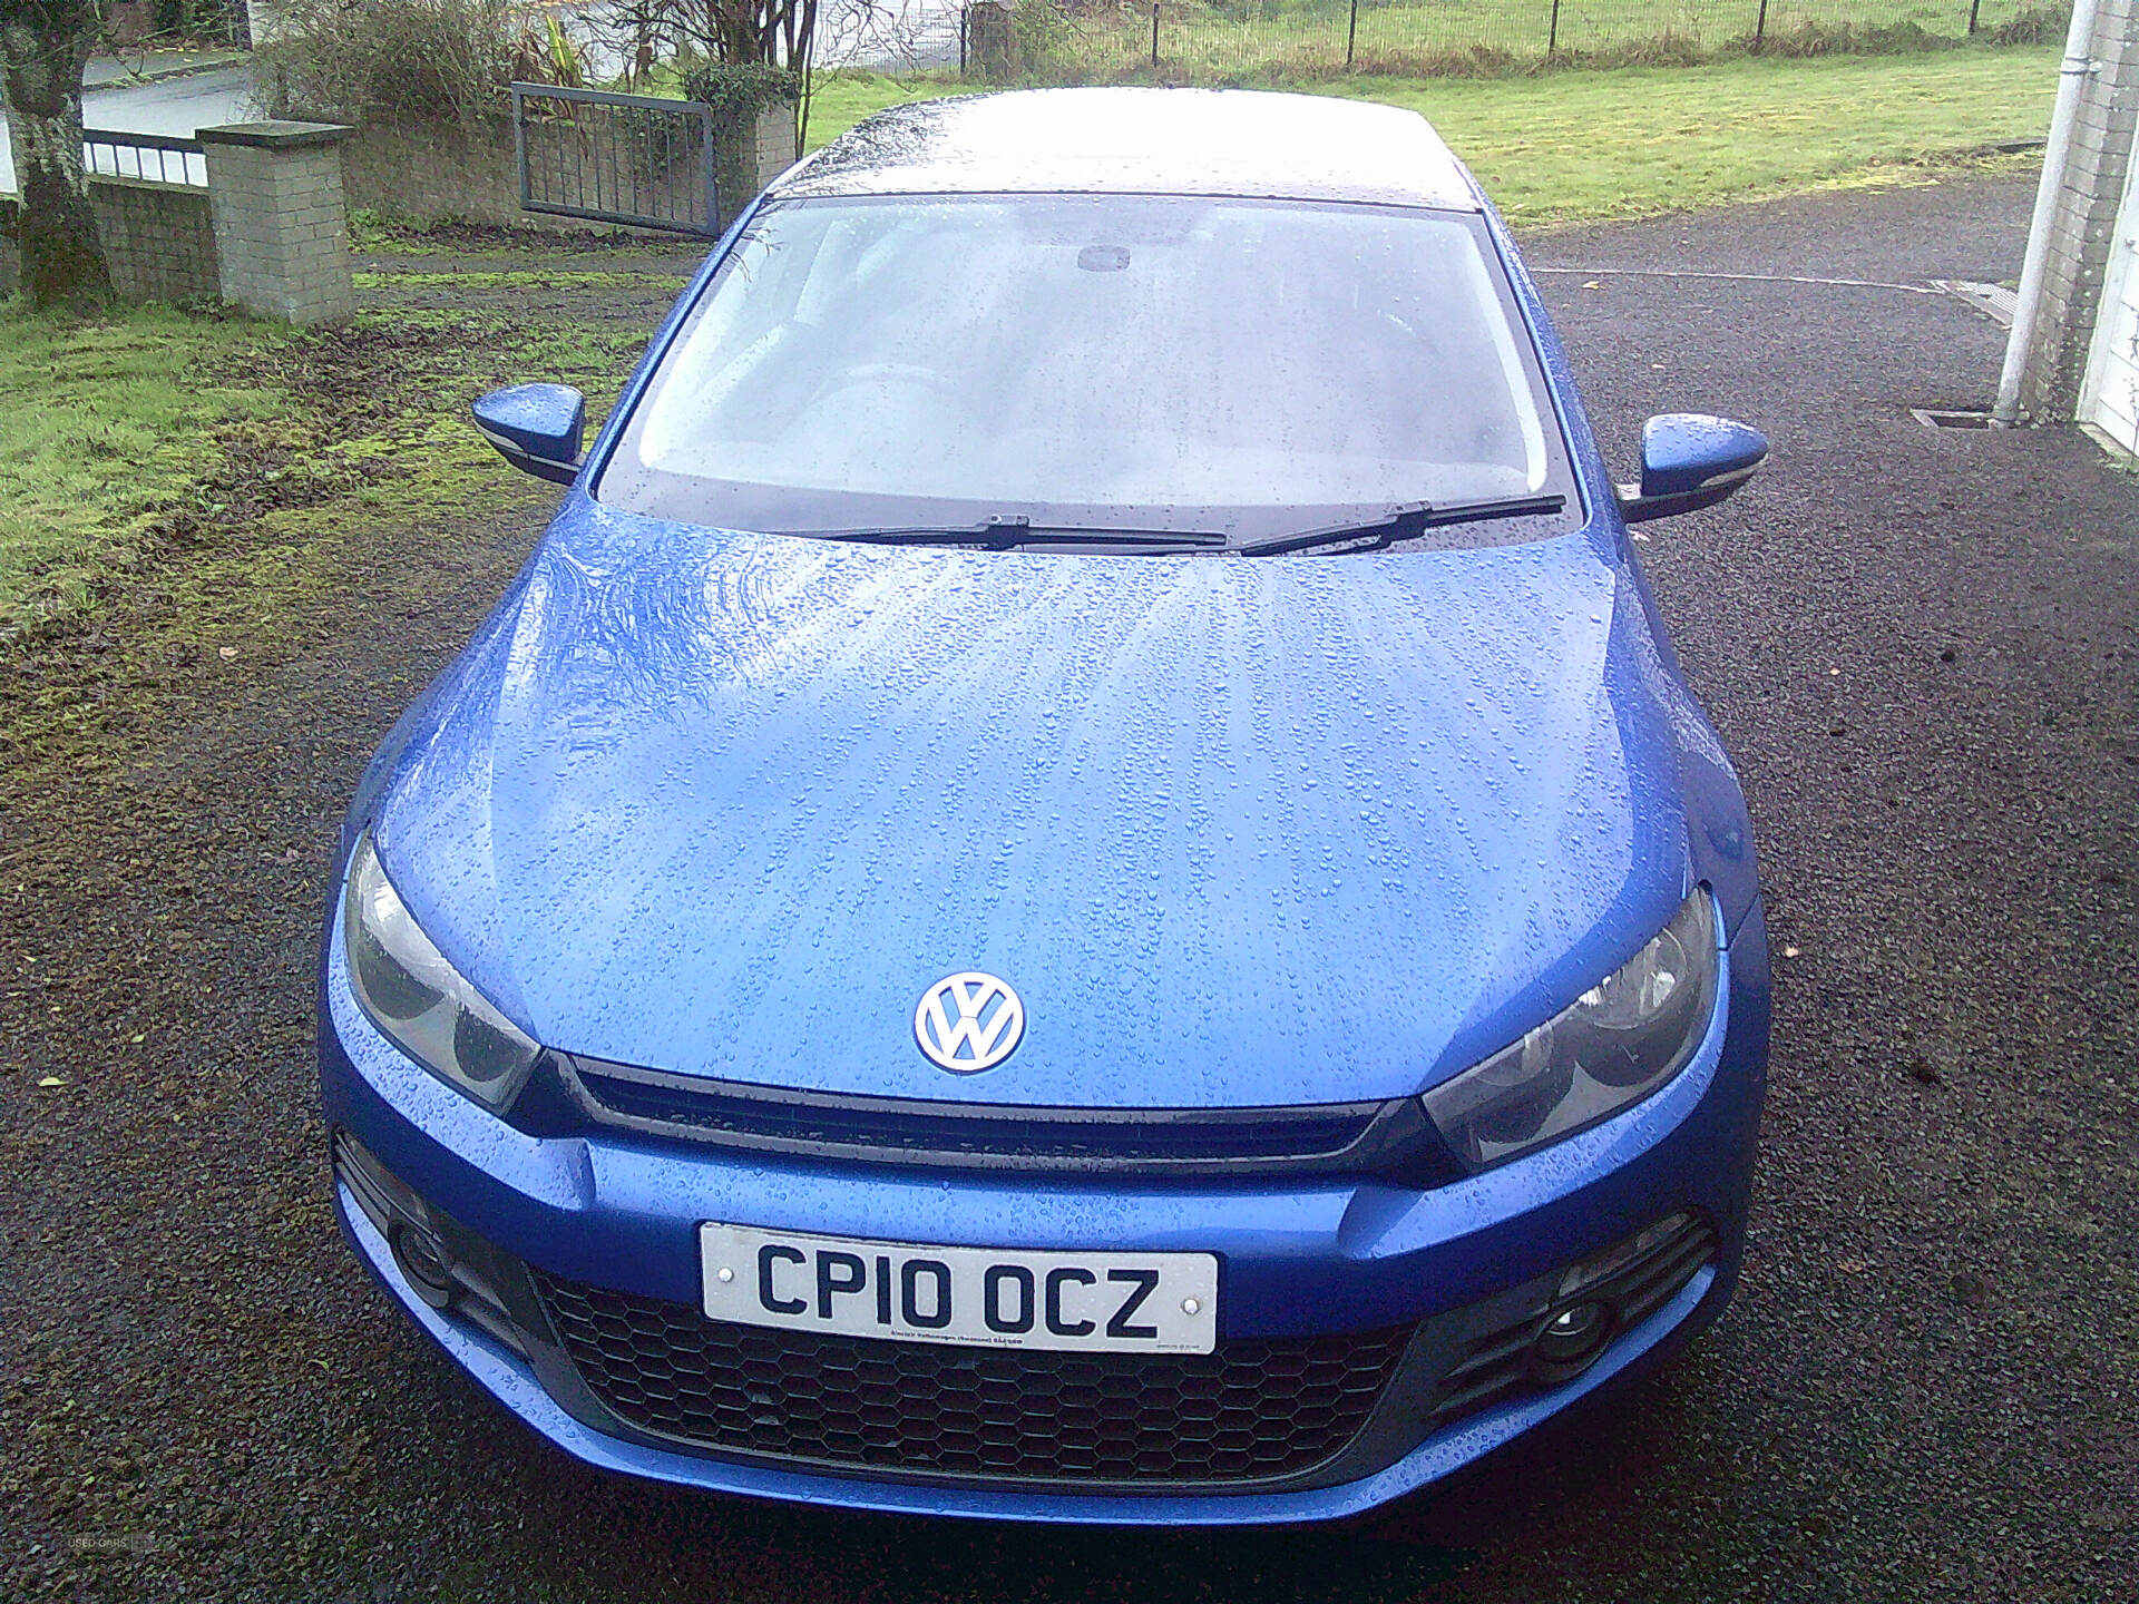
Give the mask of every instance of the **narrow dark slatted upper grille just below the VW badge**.
<path id="1" fill-rule="evenodd" d="M 1461 1174 L 1416 1097 L 1296 1108 L 1005 1108 L 708 1080 L 560 1054 L 586 1119 L 757 1153 L 1084 1174 Z"/>

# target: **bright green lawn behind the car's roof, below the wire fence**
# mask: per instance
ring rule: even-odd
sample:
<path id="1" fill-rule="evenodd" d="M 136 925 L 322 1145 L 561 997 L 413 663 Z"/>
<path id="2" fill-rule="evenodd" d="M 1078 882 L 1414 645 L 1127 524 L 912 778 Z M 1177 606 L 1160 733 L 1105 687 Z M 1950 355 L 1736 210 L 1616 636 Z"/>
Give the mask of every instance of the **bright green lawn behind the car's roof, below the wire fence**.
<path id="1" fill-rule="evenodd" d="M 1309 79 L 1313 94 L 1422 111 L 1514 222 L 1679 212 L 1893 178 L 2011 139 L 2041 139 L 2058 51 L 1741 56 L 1510 79 Z M 969 94 L 954 81 L 826 77 L 811 148 L 896 101 Z"/>

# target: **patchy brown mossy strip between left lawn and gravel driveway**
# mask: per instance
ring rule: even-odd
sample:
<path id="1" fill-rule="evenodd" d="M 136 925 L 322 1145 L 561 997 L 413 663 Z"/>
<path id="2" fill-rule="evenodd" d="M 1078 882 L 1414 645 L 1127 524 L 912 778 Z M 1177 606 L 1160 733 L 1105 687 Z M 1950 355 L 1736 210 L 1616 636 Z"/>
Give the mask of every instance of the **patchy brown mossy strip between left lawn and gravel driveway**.
<path id="1" fill-rule="evenodd" d="M 501 543 L 533 547 L 556 488 L 528 479 L 466 423 L 468 402 L 522 379 L 588 394 L 603 417 L 648 329 L 503 312 L 376 310 L 310 334 L 233 325 L 205 346 L 193 319 L 156 323 L 193 353 L 203 396 L 272 398 L 156 458 L 137 494 L 160 507 L 160 554 L 96 571 L 90 597 L 17 631 L 0 652 L 0 759 L 98 772 L 139 723 L 143 695 L 259 676 L 347 637 L 421 631 L 441 575 Z M 216 325 L 220 329 L 220 325 Z M 182 430 L 184 434 L 184 430 Z M 507 558 L 507 571 L 509 571 Z M 413 687 L 411 687 L 413 689 Z"/>

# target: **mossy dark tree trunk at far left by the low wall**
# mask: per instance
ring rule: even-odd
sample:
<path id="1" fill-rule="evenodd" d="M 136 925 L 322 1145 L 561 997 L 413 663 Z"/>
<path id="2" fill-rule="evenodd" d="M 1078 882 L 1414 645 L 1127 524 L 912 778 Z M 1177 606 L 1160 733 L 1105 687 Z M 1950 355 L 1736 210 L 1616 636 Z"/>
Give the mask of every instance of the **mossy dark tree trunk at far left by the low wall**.
<path id="1" fill-rule="evenodd" d="M 0 0 L 0 98 L 15 143 L 21 287 L 32 306 L 111 299 L 81 165 L 81 71 L 98 0 Z"/>

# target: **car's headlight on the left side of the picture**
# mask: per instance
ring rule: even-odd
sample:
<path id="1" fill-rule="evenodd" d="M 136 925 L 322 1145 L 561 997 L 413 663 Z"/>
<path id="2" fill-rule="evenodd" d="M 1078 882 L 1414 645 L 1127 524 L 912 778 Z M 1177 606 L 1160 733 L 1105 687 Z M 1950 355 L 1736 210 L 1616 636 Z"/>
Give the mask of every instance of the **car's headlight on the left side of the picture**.
<path id="1" fill-rule="evenodd" d="M 402 1052 L 486 1108 L 505 1108 L 541 1048 L 445 960 L 394 892 L 370 832 L 342 898 L 349 986 Z"/>

